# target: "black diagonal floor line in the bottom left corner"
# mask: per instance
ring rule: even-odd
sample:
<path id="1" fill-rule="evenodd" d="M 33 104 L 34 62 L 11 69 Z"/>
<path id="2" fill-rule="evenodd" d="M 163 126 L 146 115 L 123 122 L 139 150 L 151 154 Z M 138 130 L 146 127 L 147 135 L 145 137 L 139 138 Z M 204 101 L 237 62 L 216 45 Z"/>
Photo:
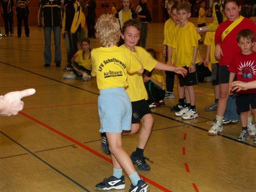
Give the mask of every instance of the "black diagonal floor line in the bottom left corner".
<path id="1" fill-rule="evenodd" d="M 21 148 L 23 148 L 24 150 L 28 151 L 28 153 L 30 153 L 31 155 L 33 155 L 34 157 L 36 157 L 37 159 L 39 159 L 41 162 L 43 162 L 44 164 L 46 164 L 47 166 L 49 166 L 50 168 L 52 168 L 53 170 L 55 170 L 56 172 L 58 172 L 59 174 L 63 175 L 64 177 L 66 177 L 67 179 L 69 179 L 70 181 L 72 181 L 74 184 L 80 186 L 80 188 L 82 188 L 83 190 L 90 192 L 87 188 L 85 188 L 84 186 L 82 186 L 80 183 L 77 183 L 75 180 L 71 179 L 69 176 L 67 176 L 66 174 L 62 173 L 61 171 L 59 171 L 58 169 L 56 169 L 54 166 L 52 166 L 51 164 L 49 164 L 48 162 L 46 162 L 45 160 L 43 160 L 41 157 L 38 157 L 37 155 L 35 155 L 35 153 L 33 153 L 32 151 L 28 150 L 27 148 L 25 148 L 22 144 L 20 144 L 19 142 L 17 142 L 16 140 L 14 140 L 13 138 L 9 137 L 8 135 L 6 135 L 4 132 L 0 131 L 0 133 L 2 133 L 2 135 L 6 136 L 7 138 L 9 138 L 10 140 L 12 140 L 13 142 L 15 142 L 17 145 L 19 145 Z"/>

